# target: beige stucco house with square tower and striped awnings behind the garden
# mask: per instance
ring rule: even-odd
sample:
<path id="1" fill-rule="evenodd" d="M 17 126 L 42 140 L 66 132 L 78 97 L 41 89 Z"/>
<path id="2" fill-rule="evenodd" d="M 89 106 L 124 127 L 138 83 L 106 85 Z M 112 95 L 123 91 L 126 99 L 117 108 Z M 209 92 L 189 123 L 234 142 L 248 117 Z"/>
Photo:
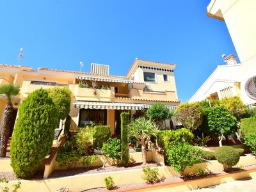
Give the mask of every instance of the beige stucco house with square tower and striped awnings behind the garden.
<path id="1" fill-rule="evenodd" d="M 101 124 L 104 122 L 110 125 L 111 133 L 116 134 L 116 121 L 118 121 L 116 116 L 120 115 L 122 110 L 130 111 L 132 117 L 136 110 L 147 109 L 155 102 L 162 102 L 170 109 L 177 107 L 179 99 L 173 72 L 175 66 L 136 59 L 127 76 L 111 76 L 49 68 L 33 70 L 31 67 L 1 64 L 0 83 L 14 83 L 20 86 L 20 93 L 13 100 L 15 108 L 19 108 L 19 104 L 28 97 L 29 93 L 39 88 L 66 87 L 72 93 L 69 115 L 74 124 L 81 125 L 81 118 L 84 118 L 81 113 L 87 113 L 84 111 L 88 110 L 99 115 L 97 110 L 101 110 L 100 113 L 104 113 L 103 116 L 106 118 L 100 121 Z M 147 74 L 144 72 L 154 76 L 154 79 L 145 81 L 144 76 Z M 97 84 L 95 88 L 92 87 L 93 82 Z M 0 97 L 0 105 L 1 127 L 6 106 L 4 97 Z M 170 126 L 166 125 L 166 127 Z"/>

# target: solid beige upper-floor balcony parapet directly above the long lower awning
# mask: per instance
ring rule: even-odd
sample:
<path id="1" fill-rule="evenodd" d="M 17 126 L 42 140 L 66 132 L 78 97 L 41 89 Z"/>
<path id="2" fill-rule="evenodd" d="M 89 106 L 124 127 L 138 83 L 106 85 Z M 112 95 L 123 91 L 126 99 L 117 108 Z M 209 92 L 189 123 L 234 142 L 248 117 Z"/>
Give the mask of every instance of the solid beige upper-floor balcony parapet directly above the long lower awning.
<path id="1" fill-rule="evenodd" d="M 76 100 L 113 102 L 115 98 L 115 88 L 97 89 L 97 88 L 81 88 L 78 84 L 70 84 L 68 88 L 76 97 Z"/>

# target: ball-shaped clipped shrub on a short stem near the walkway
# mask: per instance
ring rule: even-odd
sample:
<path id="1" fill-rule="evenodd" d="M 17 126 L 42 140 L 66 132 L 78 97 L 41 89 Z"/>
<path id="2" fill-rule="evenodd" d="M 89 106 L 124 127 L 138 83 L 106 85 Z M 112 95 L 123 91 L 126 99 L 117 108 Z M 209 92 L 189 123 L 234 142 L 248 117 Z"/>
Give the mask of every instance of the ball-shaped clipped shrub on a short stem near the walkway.
<path id="1" fill-rule="evenodd" d="M 239 152 L 229 146 L 219 147 L 215 152 L 215 157 L 219 163 L 224 165 L 224 170 L 236 165 L 240 159 Z"/>

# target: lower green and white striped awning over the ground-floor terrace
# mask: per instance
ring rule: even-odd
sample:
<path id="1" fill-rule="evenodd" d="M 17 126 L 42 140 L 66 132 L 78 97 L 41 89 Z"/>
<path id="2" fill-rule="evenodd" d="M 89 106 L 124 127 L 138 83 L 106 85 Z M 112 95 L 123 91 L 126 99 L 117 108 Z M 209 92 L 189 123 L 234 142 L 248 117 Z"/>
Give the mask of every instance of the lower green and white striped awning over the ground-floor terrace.
<path id="1" fill-rule="evenodd" d="M 148 109 L 151 104 L 132 104 L 121 102 L 90 102 L 76 101 L 73 103 L 75 108 L 80 109 L 121 109 L 121 110 L 141 110 Z M 166 106 L 168 109 L 176 109 L 177 106 Z"/>

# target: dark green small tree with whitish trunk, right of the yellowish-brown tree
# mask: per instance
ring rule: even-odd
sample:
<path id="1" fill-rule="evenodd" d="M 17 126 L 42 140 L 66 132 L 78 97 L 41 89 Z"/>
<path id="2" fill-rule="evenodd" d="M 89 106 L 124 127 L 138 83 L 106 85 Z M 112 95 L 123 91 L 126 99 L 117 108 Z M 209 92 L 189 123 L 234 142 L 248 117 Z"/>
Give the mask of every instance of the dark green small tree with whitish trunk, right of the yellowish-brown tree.
<path id="1" fill-rule="evenodd" d="M 228 111 L 228 109 L 216 106 L 206 109 L 207 124 L 209 132 L 214 133 L 219 138 L 219 144 L 222 146 L 222 140 L 225 139 L 224 134 L 230 134 L 237 131 L 236 118 Z"/>

